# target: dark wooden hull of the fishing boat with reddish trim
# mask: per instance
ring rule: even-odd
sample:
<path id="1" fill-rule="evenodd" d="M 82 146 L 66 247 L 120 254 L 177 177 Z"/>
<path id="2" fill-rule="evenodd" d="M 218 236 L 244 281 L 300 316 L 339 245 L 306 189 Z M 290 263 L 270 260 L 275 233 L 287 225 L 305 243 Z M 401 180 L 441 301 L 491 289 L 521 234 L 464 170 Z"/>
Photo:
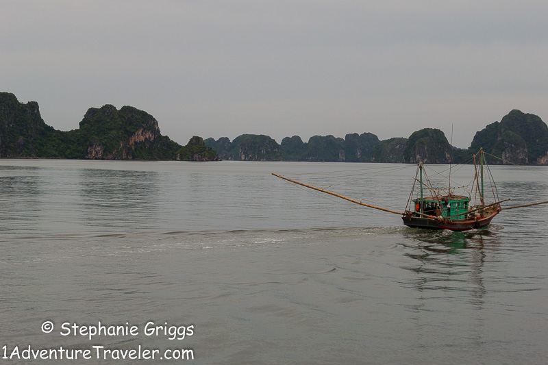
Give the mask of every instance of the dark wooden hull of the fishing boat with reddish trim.
<path id="1" fill-rule="evenodd" d="M 408 227 L 426 228 L 426 229 L 449 229 L 451 231 L 467 231 L 469 229 L 485 229 L 499 214 L 499 210 L 488 212 L 486 216 L 477 219 L 460 219 L 450 221 L 443 218 L 428 218 L 424 216 L 414 216 L 406 214 L 402 216 L 403 224 Z"/>

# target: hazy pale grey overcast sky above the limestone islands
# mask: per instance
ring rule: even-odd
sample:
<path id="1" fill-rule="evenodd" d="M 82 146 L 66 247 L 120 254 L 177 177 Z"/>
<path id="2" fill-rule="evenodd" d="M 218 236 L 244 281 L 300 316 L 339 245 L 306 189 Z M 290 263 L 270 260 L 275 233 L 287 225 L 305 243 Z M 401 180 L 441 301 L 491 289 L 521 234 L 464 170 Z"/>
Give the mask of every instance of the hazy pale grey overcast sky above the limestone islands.
<path id="1" fill-rule="evenodd" d="M 0 91 L 55 129 L 132 105 L 162 134 L 408 137 L 469 147 L 548 120 L 548 1 L 0 0 Z"/>

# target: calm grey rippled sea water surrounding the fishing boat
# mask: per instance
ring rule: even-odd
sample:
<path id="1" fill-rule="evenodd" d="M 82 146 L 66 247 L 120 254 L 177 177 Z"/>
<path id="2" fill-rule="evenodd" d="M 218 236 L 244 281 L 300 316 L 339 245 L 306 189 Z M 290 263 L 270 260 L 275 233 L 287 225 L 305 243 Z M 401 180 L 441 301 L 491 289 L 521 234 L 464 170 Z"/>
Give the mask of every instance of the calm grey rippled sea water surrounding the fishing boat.
<path id="1" fill-rule="evenodd" d="M 546 364 L 548 206 L 423 231 L 271 175 L 401 211 L 415 171 L 0 160 L 0 361 Z M 548 200 L 548 168 L 491 171 L 507 205 Z"/>

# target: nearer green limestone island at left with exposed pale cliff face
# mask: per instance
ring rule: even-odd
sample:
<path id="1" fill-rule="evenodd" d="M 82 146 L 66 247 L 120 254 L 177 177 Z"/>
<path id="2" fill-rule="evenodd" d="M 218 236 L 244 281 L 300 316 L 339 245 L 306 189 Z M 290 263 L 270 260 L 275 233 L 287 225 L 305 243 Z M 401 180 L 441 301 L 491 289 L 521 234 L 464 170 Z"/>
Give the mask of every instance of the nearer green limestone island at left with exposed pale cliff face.
<path id="1" fill-rule="evenodd" d="M 19 103 L 15 95 L 8 92 L 0 92 L 0 157 L 218 159 L 205 145 L 199 147 L 189 143 L 183 147 L 168 136 L 162 136 L 153 116 L 131 106 L 120 110 L 113 105 L 90 108 L 78 129 L 58 131 L 42 120 L 38 103 Z"/>

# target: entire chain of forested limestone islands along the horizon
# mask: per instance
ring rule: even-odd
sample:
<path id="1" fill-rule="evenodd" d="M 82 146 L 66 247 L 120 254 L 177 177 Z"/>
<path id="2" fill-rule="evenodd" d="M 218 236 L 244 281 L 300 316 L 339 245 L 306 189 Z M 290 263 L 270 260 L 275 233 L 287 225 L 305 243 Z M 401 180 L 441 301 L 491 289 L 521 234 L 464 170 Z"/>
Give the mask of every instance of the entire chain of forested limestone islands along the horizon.
<path id="1" fill-rule="evenodd" d="M 186 146 L 160 134 L 158 121 L 131 106 L 90 108 L 78 129 L 58 131 L 40 116 L 38 103 L 19 103 L 0 92 L 0 158 L 74 158 L 101 160 L 245 160 L 316 162 L 470 162 L 480 147 L 490 164 L 548 164 L 548 126 L 536 115 L 512 110 L 500 122 L 477 131 L 469 149 L 451 147 L 443 131 L 425 128 L 409 138 L 379 140 L 375 134 L 345 138 L 313 136 L 303 142 L 286 137 L 242 134 L 205 141 L 195 136 Z"/>

